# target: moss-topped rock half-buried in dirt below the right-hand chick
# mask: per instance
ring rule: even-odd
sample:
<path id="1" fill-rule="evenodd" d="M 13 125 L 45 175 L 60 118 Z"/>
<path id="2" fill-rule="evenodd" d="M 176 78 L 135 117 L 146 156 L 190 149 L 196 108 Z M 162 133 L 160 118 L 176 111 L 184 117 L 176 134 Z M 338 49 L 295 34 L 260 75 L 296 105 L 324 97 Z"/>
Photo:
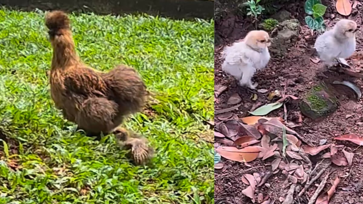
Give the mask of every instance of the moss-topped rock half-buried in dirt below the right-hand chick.
<path id="1" fill-rule="evenodd" d="M 325 118 L 338 108 L 336 97 L 323 83 L 311 88 L 299 106 L 301 113 L 313 120 Z"/>

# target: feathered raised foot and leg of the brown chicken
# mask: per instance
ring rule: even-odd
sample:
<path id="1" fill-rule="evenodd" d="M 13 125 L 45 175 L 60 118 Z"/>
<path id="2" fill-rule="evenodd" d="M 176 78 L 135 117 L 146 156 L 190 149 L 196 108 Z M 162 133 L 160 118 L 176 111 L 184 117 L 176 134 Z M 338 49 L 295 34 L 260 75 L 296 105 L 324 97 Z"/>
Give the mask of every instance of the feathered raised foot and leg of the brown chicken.
<path id="1" fill-rule="evenodd" d="M 116 128 L 113 132 L 118 140 L 119 145 L 125 149 L 130 149 L 131 159 L 136 165 L 145 164 L 151 159 L 154 150 L 148 146 L 146 138 L 129 132 L 124 128 Z"/>

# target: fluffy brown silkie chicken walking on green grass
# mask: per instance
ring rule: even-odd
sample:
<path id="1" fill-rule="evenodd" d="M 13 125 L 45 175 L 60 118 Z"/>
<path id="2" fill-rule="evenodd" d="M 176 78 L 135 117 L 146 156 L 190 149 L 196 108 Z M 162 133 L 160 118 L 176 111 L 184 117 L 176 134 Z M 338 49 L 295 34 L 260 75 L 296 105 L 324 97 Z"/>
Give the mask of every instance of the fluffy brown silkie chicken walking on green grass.
<path id="1" fill-rule="evenodd" d="M 121 145 L 131 149 L 134 162 L 144 164 L 153 151 L 147 140 L 118 127 L 144 106 L 148 92 L 143 80 L 125 65 L 104 73 L 84 64 L 76 54 L 64 12 L 48 13 L 45 25 L 53 47 L 49 82 L 56 107 L 89 136 L 114 133 Z"/>

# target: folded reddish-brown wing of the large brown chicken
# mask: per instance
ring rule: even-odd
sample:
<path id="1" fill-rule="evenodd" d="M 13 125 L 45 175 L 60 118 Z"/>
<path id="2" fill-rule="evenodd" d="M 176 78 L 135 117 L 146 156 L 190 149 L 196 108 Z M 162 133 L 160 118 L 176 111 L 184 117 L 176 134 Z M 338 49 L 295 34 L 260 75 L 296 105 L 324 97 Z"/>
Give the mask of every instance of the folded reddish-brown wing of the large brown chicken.
<path id="1" fill-rule="evenodd" d="M 107 86 L 102 77 L 87 67 L 67 72 L 64 86 L 70 95 L 105 97 L 107 92 Z"/>

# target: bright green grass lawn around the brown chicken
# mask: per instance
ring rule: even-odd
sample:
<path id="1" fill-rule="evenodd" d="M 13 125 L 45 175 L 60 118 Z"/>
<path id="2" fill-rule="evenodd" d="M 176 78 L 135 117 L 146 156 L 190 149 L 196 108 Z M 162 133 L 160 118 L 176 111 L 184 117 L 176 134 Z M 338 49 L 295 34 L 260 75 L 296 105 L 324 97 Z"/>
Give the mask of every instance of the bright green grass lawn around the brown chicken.
<path id="1" fill-rule="evenodd" d="M 71 15 L 78 54 L 136 68 L 156 96 L 125 126 L 155 147 L 134 166 L 113 135 L 76 132 L 50 99 L 42 12 L 0 7 L 0 203 L 213 203 L 214 22 Z M 213 138 L 211 136 L 211 138 Z"/>

